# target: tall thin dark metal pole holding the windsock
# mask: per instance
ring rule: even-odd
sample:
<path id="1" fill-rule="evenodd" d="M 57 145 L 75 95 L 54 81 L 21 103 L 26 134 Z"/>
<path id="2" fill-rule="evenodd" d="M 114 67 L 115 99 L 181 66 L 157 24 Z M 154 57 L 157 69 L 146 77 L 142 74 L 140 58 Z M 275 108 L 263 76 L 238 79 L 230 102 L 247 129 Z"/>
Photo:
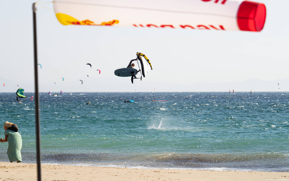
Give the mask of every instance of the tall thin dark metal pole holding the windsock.
<path id="1" fill-rule="evenodd" d="M 34 86 L 35 86 L 35 128 L 36 128 L 36 162 L 37 180 L 41 181 L 41 156 L 40 156 L 40 120 L 39 120 L 39 91 L 38 91 L 38 67 L 37 67 L 37 34 L 36 34 L 36 7 L 32 4 L 33 10 L 33 40 L 34 40 Z"/>

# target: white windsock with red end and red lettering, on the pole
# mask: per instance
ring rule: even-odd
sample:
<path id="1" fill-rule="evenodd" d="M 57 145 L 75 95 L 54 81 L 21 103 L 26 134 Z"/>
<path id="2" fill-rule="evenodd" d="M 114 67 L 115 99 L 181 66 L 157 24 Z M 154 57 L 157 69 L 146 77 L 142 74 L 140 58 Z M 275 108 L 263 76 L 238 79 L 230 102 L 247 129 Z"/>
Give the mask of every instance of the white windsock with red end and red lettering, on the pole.
<path id="1" fill-rule="evenodd" d="M 242 0 L 54 0 L 63 25 L 261 31 L 262 3 Z"/>

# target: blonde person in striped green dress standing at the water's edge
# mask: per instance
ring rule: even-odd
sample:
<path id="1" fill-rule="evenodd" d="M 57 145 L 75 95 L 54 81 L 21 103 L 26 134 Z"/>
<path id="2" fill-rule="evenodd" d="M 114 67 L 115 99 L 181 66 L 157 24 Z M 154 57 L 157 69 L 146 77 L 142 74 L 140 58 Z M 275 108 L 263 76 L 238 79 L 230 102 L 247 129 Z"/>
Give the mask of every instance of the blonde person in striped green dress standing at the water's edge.
<path id="1" fill-rule="evenodd" d="M 21 148 L 22 148 L 22 138 L 18 133 L 18 127 L 16 124 L 9 123 L 6 121 L 3 125 L 5 130 L 5 139 L 0 139 L 0 142 L 8 141 L 7 155 L 10 162 L 22 162 L 21 159 Z"/>

